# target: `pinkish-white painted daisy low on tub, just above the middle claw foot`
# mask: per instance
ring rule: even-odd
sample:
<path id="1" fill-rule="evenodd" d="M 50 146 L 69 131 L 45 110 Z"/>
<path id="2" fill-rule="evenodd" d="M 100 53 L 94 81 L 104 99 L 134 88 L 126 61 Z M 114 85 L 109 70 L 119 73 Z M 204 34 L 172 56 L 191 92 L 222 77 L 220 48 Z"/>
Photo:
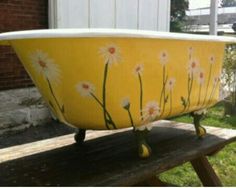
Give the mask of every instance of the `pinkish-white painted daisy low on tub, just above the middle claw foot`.
<path id="1" fill-rule="evenodd" d="M 154 121 L 157 116 L 160 115 L 160 107 L 156 101 L 150 101 L 146 104 L 143 109 L 143 121 L 151 122 Z"/>

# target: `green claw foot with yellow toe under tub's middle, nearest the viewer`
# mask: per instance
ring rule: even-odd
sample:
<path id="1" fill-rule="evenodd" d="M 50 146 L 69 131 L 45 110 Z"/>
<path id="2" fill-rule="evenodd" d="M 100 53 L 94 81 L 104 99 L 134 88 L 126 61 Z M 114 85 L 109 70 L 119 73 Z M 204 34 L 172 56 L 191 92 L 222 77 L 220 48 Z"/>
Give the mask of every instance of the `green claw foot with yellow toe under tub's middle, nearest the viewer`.
<path id="1" fill-rule="evenodd" d="M 137 144 L 138 144 L 138 154 L 139 157 L 144 159 L 150 157 L 152 153 L 151 147 L 147 143 L 147 134 L 149 133 L 148 130 L 135 130 L 134 131 Z"/>

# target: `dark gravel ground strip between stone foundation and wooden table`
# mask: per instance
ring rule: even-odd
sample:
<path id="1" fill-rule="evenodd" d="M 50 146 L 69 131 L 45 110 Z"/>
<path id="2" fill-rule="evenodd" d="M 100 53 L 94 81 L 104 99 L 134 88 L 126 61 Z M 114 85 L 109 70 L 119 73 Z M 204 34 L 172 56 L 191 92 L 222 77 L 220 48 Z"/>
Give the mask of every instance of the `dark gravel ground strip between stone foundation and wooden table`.
<path id="1" fill-rule="evenodd" d="M 36 127 L 32 126 L 30 128 L 27 128 L 26 130 L 14 134 L 6 133 L 4 135 L 1 135 L 0 149 L 53 138 L 56 136 L 62 136 L 65 134 L 71 134 L 74 132 L 75 129 L 56 121 L 52 121 L 48 124 L 39 125 Z"/>

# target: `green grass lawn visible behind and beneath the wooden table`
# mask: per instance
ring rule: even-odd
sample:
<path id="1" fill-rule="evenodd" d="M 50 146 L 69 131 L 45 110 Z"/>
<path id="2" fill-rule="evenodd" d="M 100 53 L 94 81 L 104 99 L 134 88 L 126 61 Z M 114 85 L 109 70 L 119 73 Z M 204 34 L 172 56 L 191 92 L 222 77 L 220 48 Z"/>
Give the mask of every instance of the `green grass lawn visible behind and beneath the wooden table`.
<path id="1" fill-rule="evenodd" d="M 223 104 L 209 109 L 202 121 L 203 125 L 236 129 L 236 116 L 223 116 Z M 192 123 L 188 115 L 172 119 L 177 122 Z M 236 186 L 236 143 L 227 145 L 215 156 L 208 157 L 215 172 L 224 186 Z M 160 175 L 160 179 L 178 186 L 201 186 L 195 171 L 190 163 L 171 169 Z"/>

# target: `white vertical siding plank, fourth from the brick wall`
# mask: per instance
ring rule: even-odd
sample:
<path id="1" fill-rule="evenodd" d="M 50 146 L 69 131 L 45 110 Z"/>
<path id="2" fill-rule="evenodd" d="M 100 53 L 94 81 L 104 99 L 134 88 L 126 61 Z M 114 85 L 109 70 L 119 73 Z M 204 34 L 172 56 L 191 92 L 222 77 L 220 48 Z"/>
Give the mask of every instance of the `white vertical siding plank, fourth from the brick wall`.
<path id="1" fill-rule="evenodd" d="M 157 0 L 139 1 L 139 29 L 157 30 Z"/>

